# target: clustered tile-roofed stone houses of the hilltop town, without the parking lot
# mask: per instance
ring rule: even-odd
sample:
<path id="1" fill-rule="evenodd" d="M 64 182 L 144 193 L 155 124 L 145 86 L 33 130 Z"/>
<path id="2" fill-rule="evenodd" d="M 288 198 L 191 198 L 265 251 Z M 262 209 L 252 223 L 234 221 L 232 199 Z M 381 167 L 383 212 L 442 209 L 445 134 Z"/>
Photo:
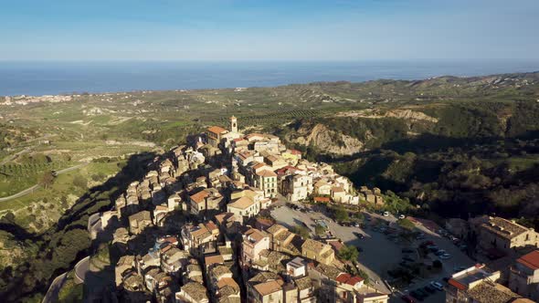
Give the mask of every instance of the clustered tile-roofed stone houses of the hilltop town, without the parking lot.
<path id="1" fill-rule="evenodd" d="M 229 123 L 227 129 L 209 127 L 155 158 L 143 180 L 131 183 L 111 211 L 90 217 L 92 238 L 112 230 L 112 246 L 121 252 L 112 265 L 117 298 L 387 302 L 392 294 L 347 270 L 338 254 L 343 244 L 304 238 L 268 215 L 290 202 L 383 205 L 380 190 L 356 191 L 331 165 L 302 159 L 300 151 L 274 135 L 243 134 L 235 117 Z M 485 256 L 498 252 L 506 261 L 498 267 L 458 268 L 445 287 L 438 282 L 426 287 L 444 289 L 447 302 L 538 299 L 539 235 L 533 229 L 489 216 L 451 219 L 445 227 L 431 229 L 447 233 L 455 244 L 473 235 Z M 442 249 L 430 241 L 419 249 L 427 252 L 423 262 L 430 260 L 429 266 L 449 255 L 438 254 Z M 402 296 L 407 302 L 418 297 L 414 292 Z"/>

